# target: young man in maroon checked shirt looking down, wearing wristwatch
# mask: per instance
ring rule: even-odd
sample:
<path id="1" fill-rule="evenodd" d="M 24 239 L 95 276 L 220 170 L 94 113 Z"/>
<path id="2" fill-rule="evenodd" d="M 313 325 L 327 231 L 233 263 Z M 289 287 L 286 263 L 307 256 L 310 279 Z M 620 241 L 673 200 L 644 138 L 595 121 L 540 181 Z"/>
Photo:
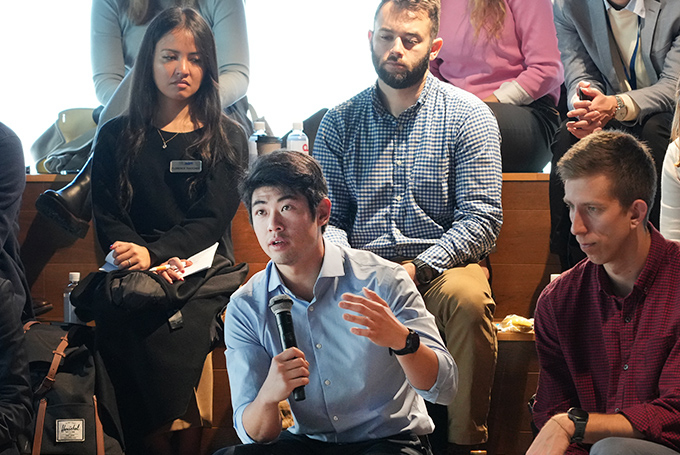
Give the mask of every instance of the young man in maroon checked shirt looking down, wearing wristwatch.
<path id="1" fill-rule="evenodd" d="M 579 141 L 558 173 L 587 259 L 536 307 L 540 433 L 527 454 L 677 454 L 680 245 L 648 220 L 654 161 L 607 131 Z"/>

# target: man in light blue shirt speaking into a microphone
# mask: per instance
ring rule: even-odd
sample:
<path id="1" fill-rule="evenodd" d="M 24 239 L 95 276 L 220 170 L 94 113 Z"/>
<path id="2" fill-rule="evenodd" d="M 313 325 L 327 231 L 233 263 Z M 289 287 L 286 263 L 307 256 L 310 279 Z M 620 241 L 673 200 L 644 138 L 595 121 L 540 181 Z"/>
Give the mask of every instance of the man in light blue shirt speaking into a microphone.
<path id="1" fill-rule="evenodd" d="M 450 402 L 457 369 L 408 273 L 324 242 L 331 202 L 309 155 L 260 157 L 241 190 L 271 261 L 227 307 L 234 426 L 245 444 L 218 453 L 430 454 L 424 399 Z M 281 299 L 292 302 L 297 341 L 286 350 L 269 308 Z M 282 432 L 278 403 L 299 387 L 306 398 L 289 400 L 295 425 Z"/>

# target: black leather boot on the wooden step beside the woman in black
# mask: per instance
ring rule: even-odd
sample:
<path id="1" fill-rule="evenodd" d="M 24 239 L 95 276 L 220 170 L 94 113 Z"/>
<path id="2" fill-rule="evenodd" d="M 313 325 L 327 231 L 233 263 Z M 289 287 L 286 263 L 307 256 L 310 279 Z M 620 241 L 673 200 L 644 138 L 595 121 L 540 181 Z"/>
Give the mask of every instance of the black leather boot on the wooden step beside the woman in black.
<path id="1" fill-rule="evenodd" d="M 85 238 L 92 219 L 91 171 L 92 155 L 71 183 L 58 191 L 47 190 L 35 201 L 39 213 L 81 239 Z"/>

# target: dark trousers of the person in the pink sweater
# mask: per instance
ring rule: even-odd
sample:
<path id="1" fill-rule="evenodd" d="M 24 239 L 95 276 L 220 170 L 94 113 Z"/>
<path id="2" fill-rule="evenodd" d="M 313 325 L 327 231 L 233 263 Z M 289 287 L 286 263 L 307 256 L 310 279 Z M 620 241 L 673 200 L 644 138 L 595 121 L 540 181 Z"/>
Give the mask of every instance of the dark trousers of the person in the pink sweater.
<path id="1" fill-rule="evenodd" d="M 550 144 L 560 114 L 550 97 L 528 106 L 487 103 L 501 131 L 503 172 L 541 172 L 550 161 Z"/>

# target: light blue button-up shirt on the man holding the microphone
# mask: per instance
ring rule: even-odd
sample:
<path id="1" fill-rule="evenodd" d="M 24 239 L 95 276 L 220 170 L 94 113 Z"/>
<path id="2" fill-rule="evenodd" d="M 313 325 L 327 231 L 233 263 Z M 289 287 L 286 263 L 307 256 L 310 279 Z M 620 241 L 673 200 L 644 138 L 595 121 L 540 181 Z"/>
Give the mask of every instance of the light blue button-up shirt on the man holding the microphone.
<path id="1" fill-rule="evenodd" d="M 407 381 L 396 356 L 368 338 L 352 334 L 354 324 L 338 306 L 345 292 L 377 292 L 404 325 L 420 335 L 439 361 L 430 390 Z M 325 442 L 359 442 L 402 432 L 428 434 L 434 424 L 426 399 L 448 404 L 457 389 L 455 362 L 439 335 L 413 281 L 398 264 L 367 251 L 326 242 L 324 262 L 311 302 L 296 298 L 270 261 L 236 291 L 227 306 L 225 342 L 234 409 L 234 426 L 244 443 L 253 442 L 243 427 L 243 411 L 264 383 L 271 359 L 282 351 L 269 300 L 279 294 L 293 299 L 291 310 L 298 347 L 309 362 L 306 399 L 289 400 L 295 425 L 289 431 Z"/>

